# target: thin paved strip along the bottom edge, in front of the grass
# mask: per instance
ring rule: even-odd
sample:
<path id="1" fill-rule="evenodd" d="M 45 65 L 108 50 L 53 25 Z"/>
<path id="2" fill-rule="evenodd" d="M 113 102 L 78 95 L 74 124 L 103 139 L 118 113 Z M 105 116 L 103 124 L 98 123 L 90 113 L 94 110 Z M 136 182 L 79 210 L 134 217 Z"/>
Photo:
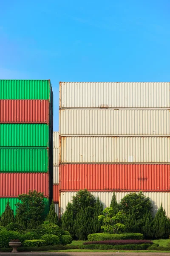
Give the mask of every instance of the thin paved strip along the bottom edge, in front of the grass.
<path id="1" fill-rule="evenodd" d="M 78 253 L 78 252 L 65 252 L 65 253 L 40 253 L 40 252 L 27 252 L 27 253 L 0 253 L 0 256 L 170 256 L 170 253 Z"/>

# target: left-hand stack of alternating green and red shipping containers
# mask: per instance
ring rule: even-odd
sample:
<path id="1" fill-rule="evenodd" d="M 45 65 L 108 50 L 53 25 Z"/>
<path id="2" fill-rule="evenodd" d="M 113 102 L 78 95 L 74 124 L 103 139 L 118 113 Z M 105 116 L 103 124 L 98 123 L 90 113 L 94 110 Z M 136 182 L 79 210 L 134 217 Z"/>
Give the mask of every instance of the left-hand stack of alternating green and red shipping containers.
<path id="1" fill-rule="evenodd" d="M 53 93 L 50 80 L 0 80 L 0 215 L 29 189 L 52 198 Z"/>

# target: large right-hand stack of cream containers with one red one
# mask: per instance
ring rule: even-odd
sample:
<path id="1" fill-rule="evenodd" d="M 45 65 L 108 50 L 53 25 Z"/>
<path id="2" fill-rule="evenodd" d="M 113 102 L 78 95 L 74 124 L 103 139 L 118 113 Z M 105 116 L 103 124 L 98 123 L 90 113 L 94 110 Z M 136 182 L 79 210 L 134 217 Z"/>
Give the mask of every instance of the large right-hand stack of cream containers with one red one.
<path id="1" fill-rule="evenodd" d="M 170 218 L 170 83 L 71 83 L 59 88 L 59 209 L 79 189 L 108 207 L 143 191 Z"/>

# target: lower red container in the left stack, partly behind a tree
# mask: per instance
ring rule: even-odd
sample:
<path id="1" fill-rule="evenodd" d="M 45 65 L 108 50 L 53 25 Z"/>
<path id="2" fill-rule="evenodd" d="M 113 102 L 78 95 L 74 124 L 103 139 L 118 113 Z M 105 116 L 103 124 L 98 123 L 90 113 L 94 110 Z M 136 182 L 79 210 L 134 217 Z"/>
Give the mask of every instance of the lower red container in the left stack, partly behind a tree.
<path id="1" fill-rule="evenodd" d="M 48 173 L 0 173 L 0 197 L 17 197 L 34 189 L 48 197 Z"/>

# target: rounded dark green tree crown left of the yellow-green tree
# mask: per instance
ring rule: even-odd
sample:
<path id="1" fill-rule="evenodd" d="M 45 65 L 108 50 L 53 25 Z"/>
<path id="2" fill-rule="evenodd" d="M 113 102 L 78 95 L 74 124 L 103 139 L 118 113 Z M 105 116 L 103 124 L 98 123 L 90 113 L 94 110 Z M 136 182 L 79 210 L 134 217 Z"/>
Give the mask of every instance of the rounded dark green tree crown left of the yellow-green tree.
<path id="1" fill-rule="evenodd" d="M 87 189 L 82 189 L 77 192 L 76 196 L 73 196 L 72 206 L 73 212 L 76 215 L 81 208 L 92 207 L 94 208 L 96 199 L 94 195 L 91 195 Z"/>

